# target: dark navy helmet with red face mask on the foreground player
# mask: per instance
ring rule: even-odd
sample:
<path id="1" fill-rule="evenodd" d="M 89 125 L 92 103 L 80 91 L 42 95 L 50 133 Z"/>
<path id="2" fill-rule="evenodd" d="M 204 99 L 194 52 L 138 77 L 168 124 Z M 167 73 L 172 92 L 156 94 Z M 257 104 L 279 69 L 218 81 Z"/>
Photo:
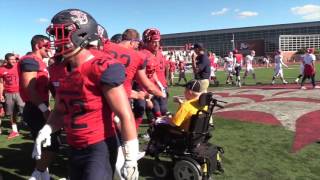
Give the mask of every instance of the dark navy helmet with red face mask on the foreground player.
<path id="1" fill-rule="evenodd" d="M 97 25 L 90 14 L 79 9 L 67 9 L 57 13 L 47 28 L 47 33 L 54 43 L 55 55 L 65 55 L 87 47 L 90 42 L 99 41 Z"/>

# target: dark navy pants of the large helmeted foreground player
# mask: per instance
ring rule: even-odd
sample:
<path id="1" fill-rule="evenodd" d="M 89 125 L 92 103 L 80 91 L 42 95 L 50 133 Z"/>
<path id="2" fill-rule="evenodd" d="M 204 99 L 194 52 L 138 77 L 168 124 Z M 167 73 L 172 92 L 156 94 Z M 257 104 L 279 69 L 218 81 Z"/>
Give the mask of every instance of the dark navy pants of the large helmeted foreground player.
<path id="1" fill-rule="evenodd" d="M 115 138 L 83 149 L 71 148 L 70 179 L 112 180 L 118 151 Z"/>

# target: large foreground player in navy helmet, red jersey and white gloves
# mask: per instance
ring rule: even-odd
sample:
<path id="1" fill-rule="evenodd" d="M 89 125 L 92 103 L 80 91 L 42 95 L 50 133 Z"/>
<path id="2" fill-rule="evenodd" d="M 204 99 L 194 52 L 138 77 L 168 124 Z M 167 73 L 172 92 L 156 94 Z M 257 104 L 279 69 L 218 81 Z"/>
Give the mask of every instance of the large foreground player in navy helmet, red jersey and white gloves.
<path id="1" fill-rule="evenodd" d="M 41 158 L 41 146 L 50 144 L 50 134 L 64 128 L 70 145 L 70 179 L 112 179 L 117 143 L 113 112 L 121 122 L 125 163 L 122 176 L 138 179 L 139 143 L 134 118 L 123 82 L 125 68 L 106 53 L 92 53 L 91 42 L 100 39 L 95 19 L 79 9 L 57 13 L 47 32 L 55 55 L 69 65 L 59 80 L 55 107 L 40 130 L 33 152 Z"/>

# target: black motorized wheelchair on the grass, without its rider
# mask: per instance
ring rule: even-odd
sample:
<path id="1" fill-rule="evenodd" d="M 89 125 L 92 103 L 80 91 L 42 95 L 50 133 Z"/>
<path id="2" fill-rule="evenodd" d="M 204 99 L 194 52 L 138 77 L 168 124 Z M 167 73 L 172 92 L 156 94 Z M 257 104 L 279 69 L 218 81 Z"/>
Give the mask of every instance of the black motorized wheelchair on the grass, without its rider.
<path id="1" fill-rule="evenodd" d="M 169 124 L 150 125 L 146 154 L 155 160 L 152 169 L 157 178 L 167 179 L 170 170 L 173 170 L 175 180 L 206 180 L 214 173 L 224 172 L 221 164 L 223 148 L 208 142 L 214 129 L 213 110 L 223 108 L 218 102 L 223 101 L 213 98 L 213 93 L 202 94 L 198 103 L 208 109 L 199 110 L 191 117 L 188 132 Z"/>

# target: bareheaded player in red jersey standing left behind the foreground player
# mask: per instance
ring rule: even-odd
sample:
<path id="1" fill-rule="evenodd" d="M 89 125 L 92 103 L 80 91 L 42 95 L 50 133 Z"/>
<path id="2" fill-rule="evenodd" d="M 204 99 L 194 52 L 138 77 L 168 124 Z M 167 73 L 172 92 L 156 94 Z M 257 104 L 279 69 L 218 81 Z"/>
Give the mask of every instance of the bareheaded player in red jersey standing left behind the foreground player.
<path id="1" fill-rule="evenodd" d="M 49 38 L 43 35 L 35 35 L 31 40 L 32 53 L 22 57 L 18 63 L 20 95 L 25 102 L 23 120 L 30 128 L 31 135 L 36 139 L 39 130 L 46 123 L 50 110 L 48 71 L 44 58 L 49 57 Z M 59 149 L 58 134 L 51 137 L 52 144 L 44 149 L 42 159 L 36 160 L 36 167 L 30 180 L 49 180 L 48 166 Z"/>

